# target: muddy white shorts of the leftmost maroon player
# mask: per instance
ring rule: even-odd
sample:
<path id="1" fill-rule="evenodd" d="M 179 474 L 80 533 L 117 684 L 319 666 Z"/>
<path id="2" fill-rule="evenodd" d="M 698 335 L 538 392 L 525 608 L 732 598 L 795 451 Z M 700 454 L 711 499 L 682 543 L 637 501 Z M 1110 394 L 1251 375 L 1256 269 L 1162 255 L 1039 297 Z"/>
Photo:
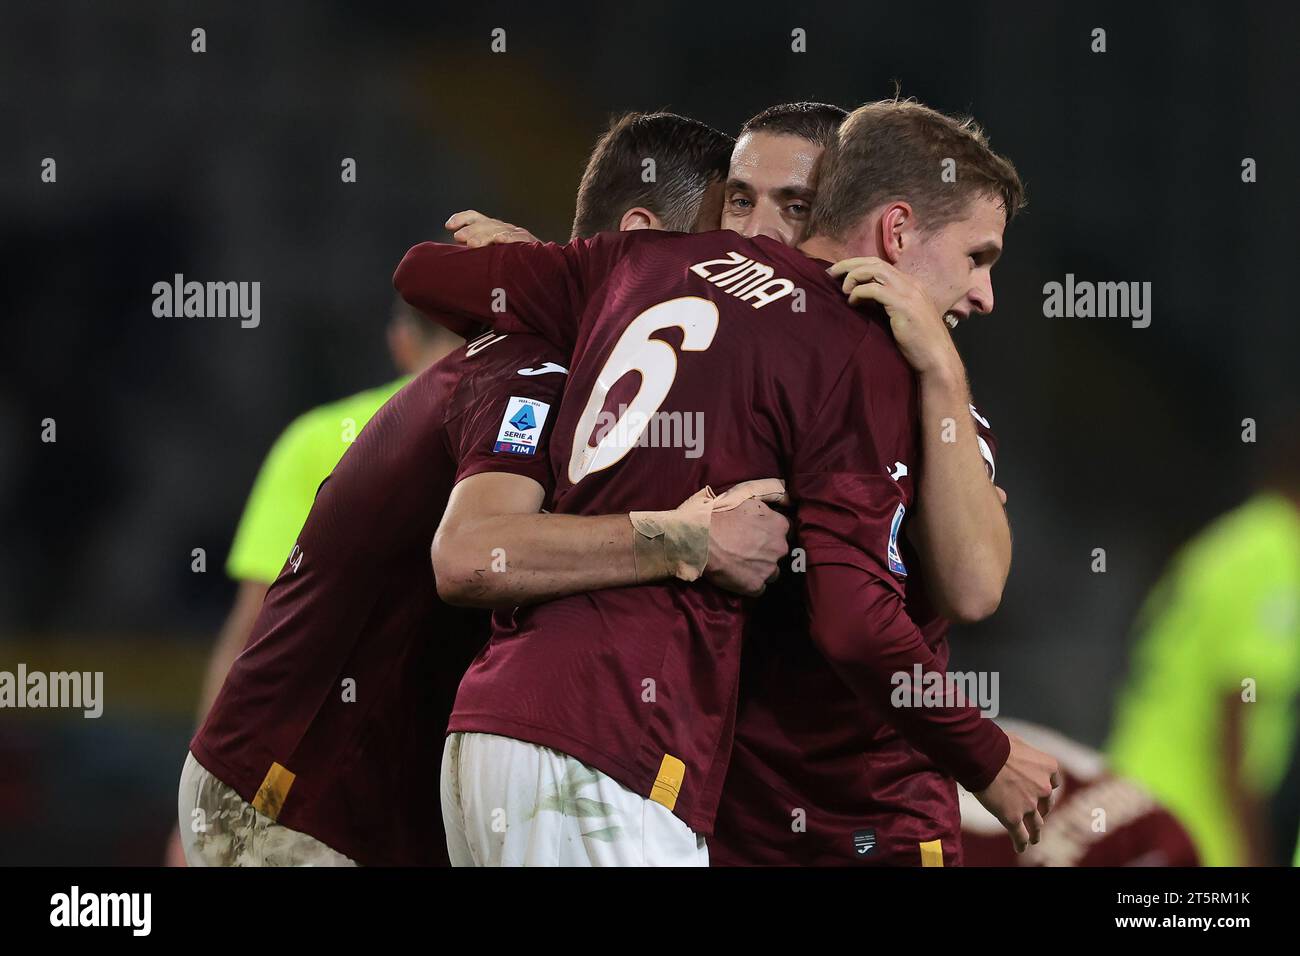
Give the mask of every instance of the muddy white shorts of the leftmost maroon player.
<path id="1" fill-rule="evenodd" d="M 254 809 L 192 753 L 185 756 L 177 810 L 188 866 L 356 866 L 315 836 Z"/>

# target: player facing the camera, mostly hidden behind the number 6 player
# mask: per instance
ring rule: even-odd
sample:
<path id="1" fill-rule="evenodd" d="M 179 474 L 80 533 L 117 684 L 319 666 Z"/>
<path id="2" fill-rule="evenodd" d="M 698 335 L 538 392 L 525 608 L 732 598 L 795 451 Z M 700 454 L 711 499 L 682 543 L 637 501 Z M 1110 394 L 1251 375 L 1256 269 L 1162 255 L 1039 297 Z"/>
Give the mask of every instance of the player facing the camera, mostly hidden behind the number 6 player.
<path id="1" fill-rule="evenodd" d="M 845 116 L 846 111 L 829 104 L 788 103 L 749 120 L 732 153 L 722 226 L 785 245 L 801 242 L 815 203 L 816 161 Z M 526 229 L 474 211 L 452 216 L 447 225 L 456 230 L 459 242 L 472 247 L 536 241 Z M 948 339 L 937 326 L 931 338 L 940 346 Z M 956 354 L 950 358 L 956 359 L 952 378 L 959 388 L 933 377 L 920 382 L 922 407 L 930 408 L 928 419 L 935 423 L 966 415 L 965 376 Z M 956 428 L 945 436 L 939 424 L 926 433 L 932 441 L 923 454 L 930 467 L 919 476 L 920 498 L 933 505 L 920 509 L 911 524 L 923 540 L 948 546 L 923 572 L 916 562 L 909 562 L 907 583 L 909 614 L 944 661 L 948 623 L 930 607 L 922 579 L 933 587 L 935 604 L 946 615 L 974 620 L 997 605 L 1010 558 L 1005 512 L 982 486 L 985 467 L 993 477 L 996 440 L 974 406 L 970 414 L 978 429 L 974 440 Z M 481 503 L 491 509 L 490 501 Z M 983 520 L 971 522 L 971 514 Z M 452 545 L 459 545 L 447 544 L 445 550 L 451 553 Z M 931 574 L 932 568 L 937 574 Z M 896 731 L 861 718 L 849 688 L 809 643 L 798 581 L 783 580 L 763 596 L 745 640 L 736 749 L 710 840 L 711 861 L 958 862 L 952 779 Z M 826 704 L 809 714 L 806 701 L 811 700 Z M 796 713 L 803 719 L 792 721 L 789 715 Z M 875 797 L 870 795 L 870 766 L 889 767 L 890 786 Z M 911 786 L 900 800 L 904 780 Z M 905 825 L 890 825 L 890 814 Z"/>

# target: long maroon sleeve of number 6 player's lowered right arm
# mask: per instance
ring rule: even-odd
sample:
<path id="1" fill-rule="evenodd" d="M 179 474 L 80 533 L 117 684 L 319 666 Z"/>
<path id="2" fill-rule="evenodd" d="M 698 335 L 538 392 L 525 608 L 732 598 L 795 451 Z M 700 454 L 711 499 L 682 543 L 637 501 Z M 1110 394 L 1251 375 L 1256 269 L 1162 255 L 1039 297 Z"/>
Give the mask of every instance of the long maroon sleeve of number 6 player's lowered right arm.
<path id="1" fill-rule="evenodd" d="M 907 499 L 890 471 L 902 475 L 896 463 L 919 458 L 915 385 L 893 372 L 897 356 L 884 355 L 885 347 L 894 346 L 868 334 L 796 451 L 790 490 L 807 558 L 812 639 L 859 697 L 978 792 L 1006 762 L 1006 734 L 957 702 L 892 706 L 896 675 L 911 687 L 918 666 L 923 675 L 940 669 L 904 609 L 906 568 L 896 542 Z M 910 488 L 911 479 L 902 480 Z"/>

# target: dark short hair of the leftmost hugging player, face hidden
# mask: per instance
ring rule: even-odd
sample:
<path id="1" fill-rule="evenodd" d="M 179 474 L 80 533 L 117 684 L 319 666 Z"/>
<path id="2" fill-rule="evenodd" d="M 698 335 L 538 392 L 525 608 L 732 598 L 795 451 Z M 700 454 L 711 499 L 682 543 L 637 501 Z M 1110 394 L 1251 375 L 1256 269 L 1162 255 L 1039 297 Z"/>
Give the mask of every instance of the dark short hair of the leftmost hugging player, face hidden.
<path id="1" fill-rule="evenodd" d="M 676 113 L 616 117 L 582 173 L 573 238 L 616 232 L 623 213 L 637 206 L 666 229 L 690 232 L 705 190 L 727 177 L 734 146 L 725 133 Z"/>

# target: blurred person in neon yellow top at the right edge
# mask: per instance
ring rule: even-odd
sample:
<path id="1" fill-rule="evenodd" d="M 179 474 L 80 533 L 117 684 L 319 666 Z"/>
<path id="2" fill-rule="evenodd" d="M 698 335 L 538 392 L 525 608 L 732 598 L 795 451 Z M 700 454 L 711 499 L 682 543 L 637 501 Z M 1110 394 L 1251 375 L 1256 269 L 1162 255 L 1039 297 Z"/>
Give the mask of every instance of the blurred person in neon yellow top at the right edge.
<path id="1" fill-rule="evenodd" d="M 1300 693 L 1300 421 L 1261 489 L 1175 555 L 1136 623 L 1108 752 L 1192 834 L 1208 866 L 1291 857 L 1274 805 Z M 1292 775 L 1292 780 L 1295 777 Z M 1294 784 L 1291 784 L 1294 786 Z"/>

